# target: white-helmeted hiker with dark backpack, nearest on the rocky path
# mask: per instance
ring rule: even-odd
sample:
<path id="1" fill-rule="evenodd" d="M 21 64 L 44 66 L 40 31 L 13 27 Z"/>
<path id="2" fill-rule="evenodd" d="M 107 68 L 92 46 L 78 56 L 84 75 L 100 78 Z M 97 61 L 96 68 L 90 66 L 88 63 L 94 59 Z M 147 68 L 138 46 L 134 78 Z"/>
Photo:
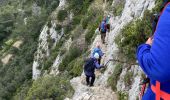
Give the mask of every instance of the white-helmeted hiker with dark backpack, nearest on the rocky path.
<path id="1" fill-rule="evenodd" d="M 95 73 L 94 73 L 95 69 L 104 67 L 102 65 L 99 65 L 97 61 L 98 59 L 99 59 L 99 54 L 95 53 L 94 56 L 90 57 L 84 65 L 84 73 L 86 75 L 86 82 L 87 82 L 87 85 L 89 86 L 93 86 L 93 83 L 95 81 Z"/>

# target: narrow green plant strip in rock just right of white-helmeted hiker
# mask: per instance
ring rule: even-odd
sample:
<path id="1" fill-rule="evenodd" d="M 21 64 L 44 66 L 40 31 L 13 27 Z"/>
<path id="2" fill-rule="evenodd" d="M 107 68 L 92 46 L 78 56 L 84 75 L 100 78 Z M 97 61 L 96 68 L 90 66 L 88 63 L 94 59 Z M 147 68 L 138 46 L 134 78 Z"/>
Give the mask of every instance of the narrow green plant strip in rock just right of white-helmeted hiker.
<path id="1" fill-rule="evenodd" d="M 115 66 L 113 74 L 108 79 L 108 85 L 111 86 L 112 90 L 114 90 L 114 91 L 116 91 L 116 89 L 117 89 L 116 85 L 117 85 L 117 81 L 119 79 L 121 72 L 122 72 L 122 65 L 117 64 Z"/>

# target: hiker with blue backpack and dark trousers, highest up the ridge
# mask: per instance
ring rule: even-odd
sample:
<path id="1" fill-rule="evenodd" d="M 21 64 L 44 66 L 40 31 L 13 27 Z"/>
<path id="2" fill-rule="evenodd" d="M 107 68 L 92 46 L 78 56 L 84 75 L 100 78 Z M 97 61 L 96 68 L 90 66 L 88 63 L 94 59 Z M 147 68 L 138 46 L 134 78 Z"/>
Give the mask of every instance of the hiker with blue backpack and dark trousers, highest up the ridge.
<path id="1" fill-rule="evenodd" d="M 104 18 L 101 22 L 101 24 L 99 25 L 99 31 L 101 34 L 101 39 L 102 39 L 102 43 L 105 43 L 105 37 L 106 37 L 106 31 L 107 31 L 107 24 L 106 24 L 106 18 Z"/>

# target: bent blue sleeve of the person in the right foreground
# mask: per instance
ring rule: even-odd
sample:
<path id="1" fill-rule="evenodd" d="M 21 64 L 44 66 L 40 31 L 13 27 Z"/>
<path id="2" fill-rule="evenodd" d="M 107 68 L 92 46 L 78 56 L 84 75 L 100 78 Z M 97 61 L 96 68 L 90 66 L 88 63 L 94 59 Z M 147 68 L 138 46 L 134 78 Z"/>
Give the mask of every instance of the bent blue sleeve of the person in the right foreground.
<path id="1" fill-rule="evenodd" d="M 164 76 L 162 75 L 162 69 L 159 66 L 155 66 L 154 58 L 150 52 L 151 46 L 148 44 L 142 44 L 137 49 L 137 59 L 138 62 L 145 72 L 145 74 L 152 79 L 164 81 Z"/>

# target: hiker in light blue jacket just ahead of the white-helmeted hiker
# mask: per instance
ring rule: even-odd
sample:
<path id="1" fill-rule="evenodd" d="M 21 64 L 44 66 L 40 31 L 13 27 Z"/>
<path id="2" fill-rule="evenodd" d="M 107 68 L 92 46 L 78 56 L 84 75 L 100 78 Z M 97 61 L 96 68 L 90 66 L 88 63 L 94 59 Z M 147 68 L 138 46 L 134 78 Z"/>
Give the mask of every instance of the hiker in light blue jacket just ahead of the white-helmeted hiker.
<path id="1" fill-rule="evenodd" d="M 100 63 L 101 63 L 102 56 L 104 55 L 104 53 L 102 52 L 99 43 L 96 44 L 96 47 L 93 49 L 93 52 L 92 52 L 92 55 L 91 55 L 91 56 L 94 56 L 95 53 L 98 53 L 98 54 L 99 54 L 98 63 L 100 64 Z"/>

